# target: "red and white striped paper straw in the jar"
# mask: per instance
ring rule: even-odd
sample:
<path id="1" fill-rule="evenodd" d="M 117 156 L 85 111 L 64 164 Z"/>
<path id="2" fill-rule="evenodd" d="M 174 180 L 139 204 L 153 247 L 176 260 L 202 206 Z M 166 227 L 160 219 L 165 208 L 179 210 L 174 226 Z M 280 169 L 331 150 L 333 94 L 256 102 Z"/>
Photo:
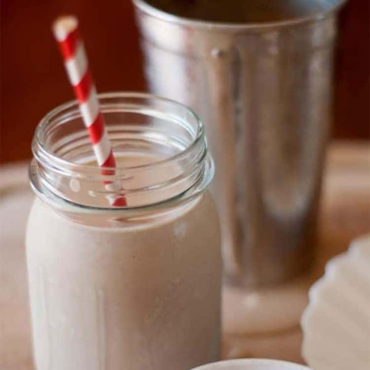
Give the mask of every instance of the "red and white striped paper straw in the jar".
<path id="1" fill-rule="evenodd" d="M 74 88 L 74 94 L 79 102 L 83 122 L 89 132 L 91 144 L 100 167 L 115 167 L 115 159 L 108 138 L 108 133 L 102 113 L 99 111 L 99 101 L 96 88 L 89 71 L 88 61 L 78 32 L 78 20 L 74 16 L 58 18 L 53 23 L 53 32 L 58 41 L 68 77 Z M 102 170 L 104 175 L 114 175 L 114 172 Z M 122 187 L 116 182 L 105 182 L 110 191 Z M 125 197 L 111 199 L 111 205 L 123 207 L 127 205 Z"/>

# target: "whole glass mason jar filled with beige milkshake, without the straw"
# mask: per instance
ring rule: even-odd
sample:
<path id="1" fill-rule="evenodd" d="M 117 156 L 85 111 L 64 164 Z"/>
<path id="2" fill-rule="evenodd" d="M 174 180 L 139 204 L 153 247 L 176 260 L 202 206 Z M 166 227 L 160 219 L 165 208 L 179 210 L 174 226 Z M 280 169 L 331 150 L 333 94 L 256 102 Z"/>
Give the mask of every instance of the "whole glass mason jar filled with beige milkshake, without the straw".
<path id="1" fill-rule="evenodd" d="M 202 123 L 147 94 L 99 97 L 101 173 L 76 102 L 32 144 L 26 236 L 37 370 L 183 370 L 219 355 L 221 254 Z M 107 182 L 122 189 L 108 189 Z M 110 199 L 125 196 L 126 207 Z"/>

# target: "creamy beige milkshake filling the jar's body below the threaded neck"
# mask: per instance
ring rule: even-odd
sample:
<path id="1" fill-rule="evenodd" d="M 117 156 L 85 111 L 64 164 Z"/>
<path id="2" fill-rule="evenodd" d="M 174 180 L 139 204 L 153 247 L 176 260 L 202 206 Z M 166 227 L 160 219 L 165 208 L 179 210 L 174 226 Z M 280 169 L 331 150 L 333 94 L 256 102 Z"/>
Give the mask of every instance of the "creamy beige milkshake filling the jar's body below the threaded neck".
<path id="1" fill-rule="evenodd" d="M 123 228 L 33 206 L 27 258 L 37 369 L 188 369 L 218 351 L 219 232 L 205 194 Z M 66 353 L 68 348 L 68 353 Z"/>

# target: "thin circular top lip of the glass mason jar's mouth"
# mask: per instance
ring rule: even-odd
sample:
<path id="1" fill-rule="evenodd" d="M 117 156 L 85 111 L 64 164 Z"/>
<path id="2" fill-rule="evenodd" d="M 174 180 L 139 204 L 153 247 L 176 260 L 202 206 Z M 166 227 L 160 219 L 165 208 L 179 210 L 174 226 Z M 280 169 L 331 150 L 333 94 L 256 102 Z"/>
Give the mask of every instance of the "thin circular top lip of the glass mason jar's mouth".
<path id="1" fill-rule="evenodd" d="M 136 170 L 136 169 L 147 169 L 150 167 L 153 167 L 158 164 L 165 164 L 169 163 L 171 161 L 177 160 L 178 158 L 185 156 L 188 152 L 190 152 L 197 144 L 199 141 L 204 140 L 204 125 L 203 122 L 200 120 L 199 116 L 188 106 L 185 106 L 184 104 L 178 103 L 175 100 L 164 98 L 158 95 L 154 94 L 149 94 L 145 92 L 134 92 L 134 91 L 109 91 L 109 92 L 104 92 L 104 93 L 99 93 L 98 94 L 98 99 L 99 101 L 102 99 L 111 99 L 111 98 L 135 98 L 135 99 L 155 99 L 158 102 L 165 102 L 171 104 L 173 107 L 178 107 L 185 109 L 188 113 L 190 113 L 195 121 L 197 122 L 197 132 L 196 135 L 193 139 L 193 141 L 186 146 L 183 150 L 179 151 L 178 153 L 174 155 L 170 155 L 164 159 L 160 159 L 157 161 L 153 161 L 150 163 L 145 163 L 141 165 L 136 165 L 136 166 L 116 166 L 114 168 L 112 167 L 105 167 L 105 170 L 115 170 L 117 173 L 121 171 L 127 171 L 127 170 Z M 52 161 L 55 163 L 58 163 L 58 165 L 65 165 L 65 166 L 73 166 L 75 171 L 91 171 L 92 169 L 100 169 L 98 165 L 91 165 L 91 164 L 81 164 L 81 163 L 75 163 L 72 161 L 69 161 L 65 158 L 61 158 L 57 154 L 53 152 L 53 150 L 50 150 L 47 148 L 45 145 L 43 145 L 43 140 L 41 139 L 42 135 L 42 129 L 44 126 L 46 126 L 52 118 L 56 117 L 59 113 L 62 113 L 65 110 L 72 109 L 72 108 L 78 108 L 78 101 L 77 100 L 70 100 L 66 103 L 63 103 L 47 114 L 45 114 L 37 124 L 37 128 L 35 131 L 35 137 L 34 137 L 34 142 L 37 146 L 37 153 L 36 150 L 33 146 L 32 151 L 34 156 L 37 157 L 42 157 L 44 160 Z"/>

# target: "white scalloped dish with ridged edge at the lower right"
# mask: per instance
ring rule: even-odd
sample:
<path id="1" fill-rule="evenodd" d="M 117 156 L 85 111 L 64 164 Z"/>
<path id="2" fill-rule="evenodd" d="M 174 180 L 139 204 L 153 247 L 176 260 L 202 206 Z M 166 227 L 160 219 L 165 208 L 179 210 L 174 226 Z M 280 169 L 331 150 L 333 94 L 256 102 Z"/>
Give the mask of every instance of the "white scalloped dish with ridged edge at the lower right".
<path id="1" fill-rule="evenodd" d="M 311 368 L 370 369 L 370 235 L 327 263 L 309 291 L 301 326 Z"/>

